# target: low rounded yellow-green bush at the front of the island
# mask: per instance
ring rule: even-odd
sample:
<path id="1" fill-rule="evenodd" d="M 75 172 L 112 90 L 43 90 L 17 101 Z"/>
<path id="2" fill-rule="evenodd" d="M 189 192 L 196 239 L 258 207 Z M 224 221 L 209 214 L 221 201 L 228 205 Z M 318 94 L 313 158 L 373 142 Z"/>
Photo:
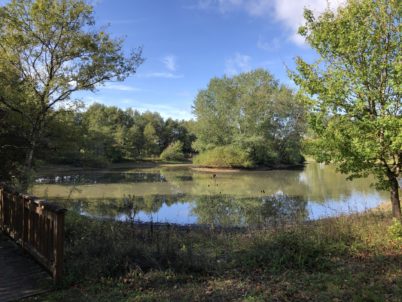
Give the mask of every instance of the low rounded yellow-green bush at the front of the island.
<path id="1" fill-rule="evenodd" d="M 251 168 L 254 166 L 248 152 L 235 146 L 215 147 L 197 155 L 194 164 L 217 168 Z"/>

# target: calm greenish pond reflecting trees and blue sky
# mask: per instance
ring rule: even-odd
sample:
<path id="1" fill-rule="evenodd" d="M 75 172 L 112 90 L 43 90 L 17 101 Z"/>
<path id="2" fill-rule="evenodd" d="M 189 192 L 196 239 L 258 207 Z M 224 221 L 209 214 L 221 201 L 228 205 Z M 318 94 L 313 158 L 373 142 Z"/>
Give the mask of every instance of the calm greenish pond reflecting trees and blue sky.
<path id="1" fill-rule="evenodd" d="M 346 180 L 330 165 L 205 172 L 191 165 L 44 172 L 33 194 L 99 219 L 264 226 L 360 212 L 388 200 L 372 178 Z"/>

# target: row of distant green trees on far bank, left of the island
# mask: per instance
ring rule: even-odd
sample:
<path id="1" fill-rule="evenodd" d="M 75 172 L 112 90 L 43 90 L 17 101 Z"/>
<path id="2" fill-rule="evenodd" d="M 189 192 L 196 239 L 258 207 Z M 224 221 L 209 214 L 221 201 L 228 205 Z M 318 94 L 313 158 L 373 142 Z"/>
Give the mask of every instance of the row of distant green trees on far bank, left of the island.
<path id="1" fill-rule="evenodd" d="M 184 153 L 192 152 L 195 137 L 187 128 L 188 122 L 164 120 L 156 112 L 141 114 L 93 104 L 83 112 L 59 109 L 54 114 L 37 148 L 37 158 L 45 162 L 102 167 L 111 162 L 159 157 L 160 150 L 177 139 L 185 143 L 181 156 L 174 160 L 183 160 Z"/>

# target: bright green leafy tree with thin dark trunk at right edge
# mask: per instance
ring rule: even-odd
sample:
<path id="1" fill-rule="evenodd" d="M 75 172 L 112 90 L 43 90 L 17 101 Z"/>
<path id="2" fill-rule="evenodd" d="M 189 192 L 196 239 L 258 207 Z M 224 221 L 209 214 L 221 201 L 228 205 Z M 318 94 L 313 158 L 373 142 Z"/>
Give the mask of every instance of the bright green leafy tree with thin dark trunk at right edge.
<path id="1" fill-rule="evenodd" d="M 312 104 L 310 152 L 350 178 L 373 173 L 376 186 L 390 190 L 399 219 L 401 12 L 398 0 L 349 0 L 318 18 L 305 10 L 299 32 L 320 59 L 308 64 L 297 58 L 291 74 Z"/>

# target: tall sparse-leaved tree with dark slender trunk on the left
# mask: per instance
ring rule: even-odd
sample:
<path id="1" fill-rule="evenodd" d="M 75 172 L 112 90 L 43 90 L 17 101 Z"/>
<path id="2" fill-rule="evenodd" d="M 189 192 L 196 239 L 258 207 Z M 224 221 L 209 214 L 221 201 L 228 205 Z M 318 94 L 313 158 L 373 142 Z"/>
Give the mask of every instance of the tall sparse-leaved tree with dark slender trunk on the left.
<path id="1" fill-rule="evenodd" d="M 12 0 L 0 7 L 0 104 L 29 123 L 25 167 L 57 106 L 74 92 L 123 80 L 143 62 L 123 40 L 97 30 L 84 0 Z"/>

